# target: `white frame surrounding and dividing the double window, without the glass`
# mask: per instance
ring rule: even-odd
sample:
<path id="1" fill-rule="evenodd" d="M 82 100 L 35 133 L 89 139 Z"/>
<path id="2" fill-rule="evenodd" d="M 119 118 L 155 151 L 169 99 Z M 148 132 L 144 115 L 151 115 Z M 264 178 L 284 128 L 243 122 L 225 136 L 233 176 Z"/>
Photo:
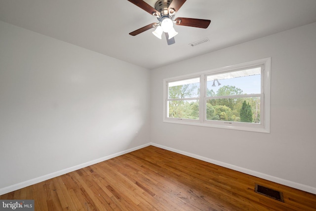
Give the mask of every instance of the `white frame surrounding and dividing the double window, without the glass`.
<path id="1" fill-rule="evenodd" d="M 256 66 L 262 66 L 261 70 L 261 94 L 260 95 L 260 123 L 241 123 L 241 122 L 225 122 L 225 121 L 210 121 L 206 120 L 206 100 L 210 97 L 206 96 L 206 78 L 208 75 L 220 74 L 224 72 L 237 71 Z M 186 80 L 190 78 L 200 78 L 200 96 L 199 96 L 199 119 L 179 119 L 167 117 L 168 108 L 168 83 Z M 207 70 L 194 74 L 173 77 L 163 80 L 163 122 L 175 123 L 184 125 L 194 125 L 203 127 L 217 127 L 225 129 L 237 129 L 254 132 L 270 133 L 270 89 L 271 89 L 271 57 L 250 61 L 242 64 Z M 246 97 L 252 95 L 246 95 Z M 253 96 L 258 96 L 255 94 Z M 234 96 L 229 96 L 234 97 Z"/>

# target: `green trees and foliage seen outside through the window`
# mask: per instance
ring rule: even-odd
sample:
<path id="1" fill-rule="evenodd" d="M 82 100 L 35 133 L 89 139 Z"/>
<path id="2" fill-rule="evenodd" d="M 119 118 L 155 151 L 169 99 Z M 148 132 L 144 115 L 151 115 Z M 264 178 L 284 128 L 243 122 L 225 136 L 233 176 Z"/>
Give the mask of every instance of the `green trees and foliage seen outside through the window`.
<path id="1" fill-rule="evenodd" d="M 236 86 L 225 85 L 215 93 L 207 90 L 207 96 L 241 95 L 243 91 Z M 190 98 L 199 95 L 199 87 L 185 84 L 169 87 L 169 99 Z M 246 103 L 246 100 L 248 103 Z M 254 112 L 252 112 L 254 111 Z M 181 119 L 198 119 L 198 100 L 169 101 L 169 117 Z M 216 121 L 260 123 L 260 98 L 219 98 L 206 102 L 206 119 Z"/>

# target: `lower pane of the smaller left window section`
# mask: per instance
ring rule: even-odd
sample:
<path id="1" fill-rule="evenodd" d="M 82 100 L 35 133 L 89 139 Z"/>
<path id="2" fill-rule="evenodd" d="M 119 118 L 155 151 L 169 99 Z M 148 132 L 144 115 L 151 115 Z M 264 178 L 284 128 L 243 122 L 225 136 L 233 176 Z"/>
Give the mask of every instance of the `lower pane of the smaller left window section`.
<path id="1" fill-rule="evenodd" d="M 198 120 L 198 100 L 168 101 L 168 117 Z"/>

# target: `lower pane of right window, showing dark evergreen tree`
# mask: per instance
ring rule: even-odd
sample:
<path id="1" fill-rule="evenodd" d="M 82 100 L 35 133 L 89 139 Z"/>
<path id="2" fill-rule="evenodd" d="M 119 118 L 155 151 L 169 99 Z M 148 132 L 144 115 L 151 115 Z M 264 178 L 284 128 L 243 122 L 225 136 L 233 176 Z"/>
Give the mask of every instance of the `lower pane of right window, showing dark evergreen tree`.
<path id="1" fill-rule="evenodd" d="M 209 99 L 206 120 L 260 123 L 260 97 Z"/>

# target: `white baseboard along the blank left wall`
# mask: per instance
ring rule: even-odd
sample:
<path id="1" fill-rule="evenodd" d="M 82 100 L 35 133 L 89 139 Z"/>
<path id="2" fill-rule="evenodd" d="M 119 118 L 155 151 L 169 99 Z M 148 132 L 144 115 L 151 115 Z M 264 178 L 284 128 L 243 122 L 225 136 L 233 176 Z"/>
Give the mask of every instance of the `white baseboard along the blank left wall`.
<path id="1" fill-rule="evenodd" d="M 53 173 L 49 173 L 49 174 L 46 174 L 46 175 L 34 178 L 34 179 L 30 179 L 30 180 L 27 180 L 27 181 L 24 181 L 24 182 L 20 182 L 20 183 L 14 184 L 14 185 L 10 185 L 10 186 L 1 188 L 0 189 L 0 195 L 6 194 L 6 193 L 10 193 L 10 192 L 15 191 L 15 190 L 19 190 L 21 188 L 25 188 L 27 186 L 34 185 L 36 183 L 45 181 L 47 179 L 51 179 L 51 178 L 54 178 L 56 176 L 60 176 L 60 175 L 63 175 L 63 174 L 66 174 L 66 173 L 69 173 L 69 172 L 72 172 L 72 171 L 75 171 L 75 170 L 78 170 L 78 169 L 82 169 L 84 167 L 88 167 L 88 166 L 91 166 L 91 165 L 94 165 L 94 164 L 97 164 L 97 163 L 109 160 L 111 158 L 118 157 L 120 155 L 124 155 L 126 153 L 129 153 L 129 152 L 132 152 L 132 151 L 135 151 L 135 150 L 138 150 L 138 149 L 150 146 L 150 145 L 151 145 L 150 143 L 143 144 L 141 146 L 134 147 L 134 148 L 131 148 L 131 149 L 128 149 L 128 150 L 124 150 L 124 151 L 121 151 L 121 152 L 118 152 L 118 153 L 115 153 L 115 154 L 112 154 L 112 155 L 108 155 L 108 156 L 105 156 L 103 158 L 99 158 L 99 159 L 96 159 L 96 160 L 93 160 L 93 161 L 89 161 L 89 162 L 86 162 L 86 163 L 83 163 L 83 164 L 80 164 L 80 165 L 77 165 L 77 166 L 74 166 L 74 167 L 70 167 L 70 168 L 67 168 L 67 169 L 59 170 L 59 171 L 56 171 L 56 172 L 53 172 Z"/>

